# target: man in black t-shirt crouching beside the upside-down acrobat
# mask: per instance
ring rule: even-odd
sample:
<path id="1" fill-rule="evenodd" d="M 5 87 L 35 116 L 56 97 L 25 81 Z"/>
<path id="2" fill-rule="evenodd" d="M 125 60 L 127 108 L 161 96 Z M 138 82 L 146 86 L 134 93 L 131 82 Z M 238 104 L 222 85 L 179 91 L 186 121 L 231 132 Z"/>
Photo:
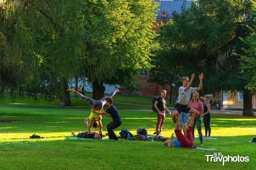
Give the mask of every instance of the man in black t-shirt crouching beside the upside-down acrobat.
<path id="1" fill-rule="evenodd" d="M 114 139 L 115 141 L 118 140 L 118 137 L 116 137 L 116 134 L 114 133 L 113 129 L 116 129 L 122 124 L 120 115 L 118 113 L 118 110 L 116 109 L 116 106 L 113 105 L 113 99 L 111 97 L 107 97 L 106 104 L 108 106 L 108 109 L 106 111 L 96 112 L 92 110 L 93 113 L 99 114 L 99 115 L 105 115 L 106 117 L 111 117 L 112 122 L 108 123 L 107 129 L 108 129 L 108 136 L 109 139 Z"/>

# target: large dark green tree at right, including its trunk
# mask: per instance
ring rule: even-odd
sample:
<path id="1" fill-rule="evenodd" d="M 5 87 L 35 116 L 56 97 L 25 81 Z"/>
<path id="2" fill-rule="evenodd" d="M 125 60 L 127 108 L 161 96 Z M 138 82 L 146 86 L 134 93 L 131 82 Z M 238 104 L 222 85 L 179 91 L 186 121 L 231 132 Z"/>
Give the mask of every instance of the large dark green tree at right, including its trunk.
<path id="1" fill-rule="evenodd" d="M 250 0 L 198 0 L 160 30 L 163 64 L 181 66 L 185 76 L 204 72 L 202 94 L 226 90 L 244 94 L 243 115 L 253 115 L 252 95 L 245 88 L 238 55 L 240 37 L 249 33 L 244 25 L 254 23 Z M 195 79 L 197 83 L 197 79 Z M 247 100 L 248 99 L 248 100 Z"/>

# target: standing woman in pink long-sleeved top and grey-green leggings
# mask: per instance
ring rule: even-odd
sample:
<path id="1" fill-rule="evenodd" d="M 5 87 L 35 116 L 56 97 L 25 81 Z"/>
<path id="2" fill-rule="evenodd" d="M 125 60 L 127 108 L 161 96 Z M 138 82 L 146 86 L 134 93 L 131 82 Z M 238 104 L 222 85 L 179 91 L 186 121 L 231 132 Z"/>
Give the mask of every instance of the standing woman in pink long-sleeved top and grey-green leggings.
<path id="1" fill-rule="evenodd" d="M 202 118 L 201 115 L 204 111 L 204 106 L 202 104 L 202 102 L 199 101 L 199 93 L 198 92 L 194 92 L 192 94 L 193 98 L 192 100 L 189 102 L 188 107 L 191 107 L 193 109 L 195 109 L 196 111 L 199 112 L 199 116 L 196 117 L 194 119 L 194 125 L 192 128 L 192 135 L 193 135 L 193 140 L 195 138 L 194 132 L 195 132 L 195 126 L 197 127 L 197 131 L 199 134 L 199 140 L 200 140 L 200 145 L 201 147 L 203 146 L 203 134 L 202 134 Z"/>

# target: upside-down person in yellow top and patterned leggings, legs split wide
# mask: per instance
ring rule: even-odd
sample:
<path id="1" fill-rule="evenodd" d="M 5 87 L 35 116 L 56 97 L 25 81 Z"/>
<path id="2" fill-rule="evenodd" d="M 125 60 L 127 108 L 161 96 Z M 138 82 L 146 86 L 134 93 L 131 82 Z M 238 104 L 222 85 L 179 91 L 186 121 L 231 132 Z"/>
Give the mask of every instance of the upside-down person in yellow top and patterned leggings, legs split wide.
<path id="1" fill-rule="evenodd" d="M 107 97 L 112 97 L 114 96 L 114 94 L 116 94 L 116 92 L 119 92 L 118 88 L 116 88 L 116 90 L 112 93 L 110 93 L 108 96 L 100 99 L 100 100 L 94 100 L 91 98 L 88 98 L 86 96 L 83 96 L 82 94 L 80 94 L 79 92 L 76 92 L 74 90 L 74 88 L 70 88 L 67 91 L 73 92 L 76 94 L 76 96 L 78 96 L 79 98 L 81 98 L 82 100 L 84 100 L 85 102 L 87 102 L 90 106 L 92 106 L 92 109 L 95 110 L 96 112 L 101 112 L 101 109 L 103 108 L 103 106 L 106 104 L 105 99 Z M 93 120 L 94 118 L 94 120 Z M 91 111 L 91 114 L 89 117 L 87 117 L 86 119 L 84 119 L 84 122 L 86 123 L 87 127 L 88 127 L 88 131 L 91 131 L 92 128 L 92 124 L 94 121 L 98 121 L 98 126 L 102 127 L 102 122 L 101 122 L 101 115 L 95 114 Z M 90 120 L 90 123 L 88 124 L 88 121 Z"/>

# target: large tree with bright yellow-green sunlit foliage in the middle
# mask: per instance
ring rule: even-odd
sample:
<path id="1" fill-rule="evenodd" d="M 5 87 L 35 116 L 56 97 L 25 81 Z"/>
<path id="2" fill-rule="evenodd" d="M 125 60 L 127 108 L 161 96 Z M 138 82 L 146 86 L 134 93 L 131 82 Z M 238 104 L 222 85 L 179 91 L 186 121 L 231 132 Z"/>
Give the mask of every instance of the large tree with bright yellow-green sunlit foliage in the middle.
<path id="1" fill-rule="evenodd" d="M 104 95 L 103 83 L 136 87 L 138 72 L 150 68 L 157 4 L 148 0 L 89 0 L 82 12 L 86 55 L 82 76 L 93 86 L 93 98 Z M 89 10 L 89 9 L 90 10 Z"/>

